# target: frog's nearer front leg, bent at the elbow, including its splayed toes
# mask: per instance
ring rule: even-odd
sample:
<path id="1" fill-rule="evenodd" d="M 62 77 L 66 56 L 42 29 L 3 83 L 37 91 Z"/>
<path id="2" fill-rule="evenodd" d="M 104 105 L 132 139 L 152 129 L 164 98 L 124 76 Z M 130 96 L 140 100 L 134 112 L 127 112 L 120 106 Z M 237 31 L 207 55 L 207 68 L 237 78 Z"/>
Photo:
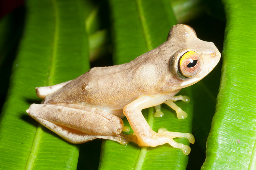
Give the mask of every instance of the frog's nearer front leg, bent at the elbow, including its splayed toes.
<path id="1" fill-rule="evenodd" d="M 162 95 L 159 97 L 142 96 L 137 100 L 134 100 L 124 108 L 124 114 L 127 117 L 134 134 L 138 137 L 141 145 L 155 147 L 169 143 L 172 147 L 181 149 L 184 154 L 188 155 L 190 147 L 182 143 L 177 143 L 173 140 L 176 137 L 185 137 L 190 143 L 195 142 L 195 138 L 189 133 L 177 133 L 177 132 L 154 132 L 147 121 L 143 117 L 141 110 L 152 106 L 159 105 L 170 99 L 168 95 Z"/>

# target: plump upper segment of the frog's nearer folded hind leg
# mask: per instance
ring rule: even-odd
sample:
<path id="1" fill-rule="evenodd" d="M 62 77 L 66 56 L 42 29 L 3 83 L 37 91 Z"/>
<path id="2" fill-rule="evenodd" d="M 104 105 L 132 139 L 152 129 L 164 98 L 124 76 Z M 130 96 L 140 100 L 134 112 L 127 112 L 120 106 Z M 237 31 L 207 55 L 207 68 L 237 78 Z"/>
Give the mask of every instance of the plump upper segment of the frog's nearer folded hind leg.
<path id="1" fill-rule="evenodd" d="M 67 127 L 67 130 L 72 129 L 72 131 L 80 131 L 88 135 L 120 134 L 123 129 L 122 119 L 101 111 L 102 114 L 97 114 L 65 106 L 31 104 L 27 113 L 40 123 L 45 120 L 44 126 L 47 128 L 48 126 L 52 127 L 50 124 L 54 123 L 57 126 Z"/>

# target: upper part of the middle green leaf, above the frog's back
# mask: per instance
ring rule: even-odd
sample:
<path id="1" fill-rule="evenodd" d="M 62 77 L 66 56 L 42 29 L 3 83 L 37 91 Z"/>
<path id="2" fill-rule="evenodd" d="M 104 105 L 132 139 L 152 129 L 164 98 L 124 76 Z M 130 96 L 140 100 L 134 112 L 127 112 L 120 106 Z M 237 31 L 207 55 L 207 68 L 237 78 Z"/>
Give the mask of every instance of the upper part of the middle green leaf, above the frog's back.
<path id="1" fill-rule="evenodd" d="M 176 24 L 170 3 L 165 0 L 109 2 L 113 24 L 114 64 L 130 62 L 159 46 L 166 40 L 173 24 Z"/>

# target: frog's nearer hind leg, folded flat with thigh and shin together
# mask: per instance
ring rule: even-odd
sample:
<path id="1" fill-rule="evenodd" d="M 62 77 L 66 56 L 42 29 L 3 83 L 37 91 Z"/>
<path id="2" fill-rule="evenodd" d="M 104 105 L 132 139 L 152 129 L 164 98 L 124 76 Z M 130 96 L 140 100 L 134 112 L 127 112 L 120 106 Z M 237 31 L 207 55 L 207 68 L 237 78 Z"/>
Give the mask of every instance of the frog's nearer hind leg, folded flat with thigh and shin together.
<path id="1" fill-rule="evenodd" d="M 84 143 L 96 138 L 122 144 L 137 142 L 136 136 L 120 134 L 123 121 L 95 107 L 59 103 L 31 104 L 27 113 L 46 128 L 72 143 Z"/>

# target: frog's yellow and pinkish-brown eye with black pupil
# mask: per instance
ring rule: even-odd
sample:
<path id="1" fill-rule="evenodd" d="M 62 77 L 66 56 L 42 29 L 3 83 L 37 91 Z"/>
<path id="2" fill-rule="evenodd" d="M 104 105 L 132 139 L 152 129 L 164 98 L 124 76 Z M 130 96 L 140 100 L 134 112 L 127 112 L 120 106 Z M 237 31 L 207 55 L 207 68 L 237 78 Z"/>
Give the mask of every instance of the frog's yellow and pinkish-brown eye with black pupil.
<path id="1" fill-rule="evenodd" d="M 178 64 L 180 74 L 185 77 L 193 77 L 200 69 L 200 58 L 195 51 L 185 52 Z"/>

